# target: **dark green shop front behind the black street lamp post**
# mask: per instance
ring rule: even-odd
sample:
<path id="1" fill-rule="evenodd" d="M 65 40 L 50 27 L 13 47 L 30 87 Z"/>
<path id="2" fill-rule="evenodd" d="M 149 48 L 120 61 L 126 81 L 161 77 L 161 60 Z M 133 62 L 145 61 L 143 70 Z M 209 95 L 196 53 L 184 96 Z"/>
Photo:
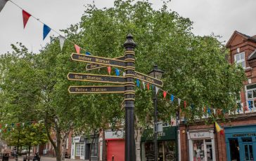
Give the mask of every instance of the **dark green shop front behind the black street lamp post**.
<path id="1" fill-rule="evenodd" d="M 153 129 L 144 130 L 141 137 L 141 160 L 154 160 Z M 163 127 L 158 132 L 158 160 L 178 160 L 177 155 L 177 127 Z"/>

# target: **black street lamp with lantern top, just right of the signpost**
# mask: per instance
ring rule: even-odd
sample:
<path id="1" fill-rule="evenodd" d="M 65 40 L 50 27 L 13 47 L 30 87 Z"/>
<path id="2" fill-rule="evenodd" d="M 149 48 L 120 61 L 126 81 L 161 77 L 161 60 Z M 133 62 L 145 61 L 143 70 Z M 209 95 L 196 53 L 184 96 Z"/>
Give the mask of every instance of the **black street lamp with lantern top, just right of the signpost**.
<path id="1" fill-rule="evenodd" d="M 149 72 L 149 76 L 157 79 L 162 78 L 162 74 L 164 71 L 158 69 L 157 65 L 154 65 L 151 72 Z M 156 93 L 155 87 L 153 87 L 153 94 L 154 94 L 154 103 L 155 103 L 155 119 L 154 119 L 154 150 L 155 150 L 155 161 L 158 161 L 158 94 Z"/>

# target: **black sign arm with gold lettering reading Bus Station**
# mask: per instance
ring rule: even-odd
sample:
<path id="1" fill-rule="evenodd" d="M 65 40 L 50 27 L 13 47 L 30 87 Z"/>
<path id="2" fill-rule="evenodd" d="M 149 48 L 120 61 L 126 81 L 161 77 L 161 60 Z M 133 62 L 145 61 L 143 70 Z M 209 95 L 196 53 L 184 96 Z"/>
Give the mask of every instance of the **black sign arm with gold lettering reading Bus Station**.
<path id="1" fill-rule="evenodd" d="M 92 73 L 68 73 L 68 80 L 123 84 L 122 76 L 105 76 Z"/>

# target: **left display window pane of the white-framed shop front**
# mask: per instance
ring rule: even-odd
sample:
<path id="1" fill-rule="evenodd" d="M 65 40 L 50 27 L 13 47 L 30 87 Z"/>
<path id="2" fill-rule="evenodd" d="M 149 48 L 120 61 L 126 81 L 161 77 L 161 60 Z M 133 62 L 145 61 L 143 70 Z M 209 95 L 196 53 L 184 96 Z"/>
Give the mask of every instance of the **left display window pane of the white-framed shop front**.
<path id="1" fill-rule="evenodd" d="M 203 140 L 193 140 L 193 160 L 205 160 L 205 146 Z"/>

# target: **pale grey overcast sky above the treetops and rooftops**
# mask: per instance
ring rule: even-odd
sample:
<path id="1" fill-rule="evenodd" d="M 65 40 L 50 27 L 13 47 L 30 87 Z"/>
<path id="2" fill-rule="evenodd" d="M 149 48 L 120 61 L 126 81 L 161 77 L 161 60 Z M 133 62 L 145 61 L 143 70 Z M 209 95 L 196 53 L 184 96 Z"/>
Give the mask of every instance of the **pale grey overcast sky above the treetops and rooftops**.
<path id="1" fill-rule="evenodd" d="M 12 1 L 56 31 L 79 22 L 84 6 L 92 3 L 92 0 Z M 108 8 L 113 6 L 113 1 L 95 0 L 95 3 L 98 8 Z M 157 10 L 162 6 L 161 0 L 149 1 Z M 235 30 L 256 35 L 256 0 L 172 0 L 168 7 L 193 21 L 196 35 L 214 33 L 223 36 L 221 41 L 228 41 Z M 11 43 L 17 41 L 37 52 L 49 42 L 49 36 L 42 40 L 42 28 L 40 22 L 30 18 L 23 29 L 22 10 L 8 1 L 0 13 L 0 54 L 11 50 Z M 53 31 L 50 34 L 56 35 Z"/>

